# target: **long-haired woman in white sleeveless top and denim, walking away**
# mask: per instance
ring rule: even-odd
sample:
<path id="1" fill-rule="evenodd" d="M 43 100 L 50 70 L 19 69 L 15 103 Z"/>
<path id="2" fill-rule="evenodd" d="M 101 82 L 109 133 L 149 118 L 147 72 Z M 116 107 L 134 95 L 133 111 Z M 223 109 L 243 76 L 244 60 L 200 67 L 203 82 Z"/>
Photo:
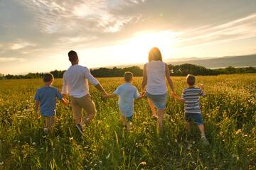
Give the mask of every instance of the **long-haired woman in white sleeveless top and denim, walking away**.
<path id="1" fill-rule="evenodd" d="M 163 115 L 167 101 L 167 87 L 166 81 L 169 84 L 172 94 L 174 92 L 174 84 L 171 81 L 169 67 L 163 62 L 161 52 L 157 47 L 151 48 L 149 51 L 149 62 L 144 64 L 143 80 L 142 80 L 142 94 L 146 86 L 146 96 L 149 101 L 153 118 L 158 118 L 160 127 L 163 126 Z M 155 107 L 157 108 L 157 116 Z"/>

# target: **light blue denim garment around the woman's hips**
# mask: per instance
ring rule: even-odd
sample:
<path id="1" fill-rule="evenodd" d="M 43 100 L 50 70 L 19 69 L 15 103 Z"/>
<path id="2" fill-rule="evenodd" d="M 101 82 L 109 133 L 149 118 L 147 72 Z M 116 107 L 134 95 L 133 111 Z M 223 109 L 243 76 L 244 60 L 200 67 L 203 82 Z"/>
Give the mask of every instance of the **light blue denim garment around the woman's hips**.
<path id="1" fill-rule="evenodd" d="M 146 97 L 159 109 L 165 109 L 167 102 L 167 93 L 166 94 L 149 94 L 146 92 Z"/>

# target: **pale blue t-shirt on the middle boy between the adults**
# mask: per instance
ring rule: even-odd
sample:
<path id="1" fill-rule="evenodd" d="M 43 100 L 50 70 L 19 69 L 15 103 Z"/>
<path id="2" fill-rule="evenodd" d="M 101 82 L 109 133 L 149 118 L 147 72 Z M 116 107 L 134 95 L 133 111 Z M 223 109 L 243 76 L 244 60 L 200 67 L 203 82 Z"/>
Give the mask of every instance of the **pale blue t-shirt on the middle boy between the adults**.
<path id="1" fill-rule="evenodd" d="M 119 111 L 124 117 L 132 116 L 134 113 L 134 98 L 139 98 L 139 91 L 130 83 L 125 83 L 114 91 L 114 94 L 119 95 L 118 105 Z"/>

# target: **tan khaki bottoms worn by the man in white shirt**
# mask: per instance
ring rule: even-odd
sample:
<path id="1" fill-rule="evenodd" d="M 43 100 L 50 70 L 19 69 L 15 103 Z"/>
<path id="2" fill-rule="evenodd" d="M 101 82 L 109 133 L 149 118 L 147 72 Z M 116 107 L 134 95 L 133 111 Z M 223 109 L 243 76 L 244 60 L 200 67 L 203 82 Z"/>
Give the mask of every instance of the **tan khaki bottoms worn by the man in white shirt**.
<path id="1" fill-rule="evenodd" d="M 90 94 L 82 96 L 81 98 L 75 98 L 73 96 L 70 96 L 70 98 L 71 105 L 73 108 L 73 118 L 75 120 L 82 118 L 82 108 L 85 110 L 87 114 L 95 115 L 95 103 L 93 103 L 92 96 L 90 96 Z"/>

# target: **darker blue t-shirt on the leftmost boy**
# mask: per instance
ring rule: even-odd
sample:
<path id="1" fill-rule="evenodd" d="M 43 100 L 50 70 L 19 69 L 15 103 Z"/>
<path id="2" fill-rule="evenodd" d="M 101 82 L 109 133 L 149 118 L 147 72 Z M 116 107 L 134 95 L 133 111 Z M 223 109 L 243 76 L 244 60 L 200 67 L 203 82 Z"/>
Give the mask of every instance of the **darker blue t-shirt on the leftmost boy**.
<path id="1" fill-rule="evenodd" d="M 34 100 L 40 101 L 40 113 L 44 116 L 55 115 L 56 97 L 60 100 L 63 96 L 55 87 L 41 87 L 36 91 Z"/>

